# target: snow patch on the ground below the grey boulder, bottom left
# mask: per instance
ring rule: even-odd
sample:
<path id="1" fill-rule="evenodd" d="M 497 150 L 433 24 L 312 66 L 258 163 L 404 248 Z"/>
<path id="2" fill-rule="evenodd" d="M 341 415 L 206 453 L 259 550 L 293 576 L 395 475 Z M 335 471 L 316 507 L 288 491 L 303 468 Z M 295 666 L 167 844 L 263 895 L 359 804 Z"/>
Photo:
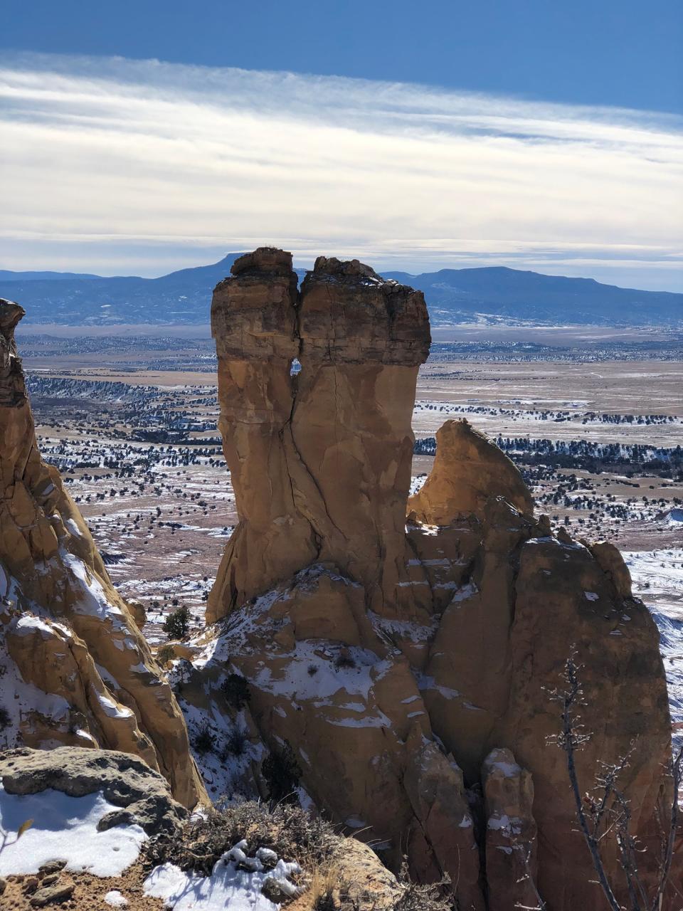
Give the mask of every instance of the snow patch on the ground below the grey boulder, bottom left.
<path id="1" fill-rule="evenodd" d="M 0 875 L 37 873 L 51 860 L 66 860 L 66 869 L 96 876 L 120 876 L 135 863 L 147 835 L 139 825 L 116 825 L 97 832 L 97 823 L 118 810 L 102 793 L 69 797 L 48 789 L 36 794 L 6 793 L 0 784 L 0 834 L 8 842 L 0 853 Z M 27 820 L 31 827 L 13 833 Z"/>

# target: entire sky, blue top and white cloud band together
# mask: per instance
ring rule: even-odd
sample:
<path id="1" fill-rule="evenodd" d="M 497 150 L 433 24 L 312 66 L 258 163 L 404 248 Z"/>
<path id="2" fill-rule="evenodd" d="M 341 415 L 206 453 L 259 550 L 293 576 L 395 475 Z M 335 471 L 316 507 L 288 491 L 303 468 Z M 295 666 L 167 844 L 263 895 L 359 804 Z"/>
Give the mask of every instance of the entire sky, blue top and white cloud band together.
<path id="1" fill-rule="evenodd" d="M 271 242 L 683 290 L 682 11 L 5 0 L 0 268 Z"/>

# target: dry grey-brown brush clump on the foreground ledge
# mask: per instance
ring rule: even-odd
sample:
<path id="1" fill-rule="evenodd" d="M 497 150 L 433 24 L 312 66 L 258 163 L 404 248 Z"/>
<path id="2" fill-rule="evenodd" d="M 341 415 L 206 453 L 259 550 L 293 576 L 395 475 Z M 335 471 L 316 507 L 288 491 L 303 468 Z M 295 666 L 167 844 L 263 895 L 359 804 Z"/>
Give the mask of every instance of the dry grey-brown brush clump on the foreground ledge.
<path id="1" fill-rule="evenodd" d="M 150 839 L 144 848 L 145 865 L 169 863 L 209 875 L 219 857 L 242 839 L 251 855 L 261 847 L 270 848 L 283 860 L 298 861 L 304 870 L 324 865 L 340 841 L 329 823 L 301 807 L 278 804 L 270 809 L 247 801 L 191 818 L 179 836 Z"/>

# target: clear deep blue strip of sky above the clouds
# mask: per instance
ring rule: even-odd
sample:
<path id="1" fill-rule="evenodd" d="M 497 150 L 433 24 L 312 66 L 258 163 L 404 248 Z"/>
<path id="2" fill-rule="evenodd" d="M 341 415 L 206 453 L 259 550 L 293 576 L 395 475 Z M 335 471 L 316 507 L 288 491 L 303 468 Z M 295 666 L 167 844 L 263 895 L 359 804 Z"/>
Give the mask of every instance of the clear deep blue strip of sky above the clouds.
<path id="1" fill-rule="evenodd" d="M 683 113 L 680 0 L 5 0 L 4 8 L 8 48 Z"/>

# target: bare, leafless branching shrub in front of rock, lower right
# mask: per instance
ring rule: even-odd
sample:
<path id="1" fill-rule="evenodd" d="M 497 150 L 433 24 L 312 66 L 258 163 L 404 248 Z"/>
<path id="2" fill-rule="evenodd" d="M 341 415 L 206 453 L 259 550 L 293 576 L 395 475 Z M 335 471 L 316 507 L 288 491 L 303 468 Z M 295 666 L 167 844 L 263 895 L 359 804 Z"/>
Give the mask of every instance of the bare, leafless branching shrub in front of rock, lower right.
<path id="1" fill-rule="evenodd" d="M 658 877 L 654 892 L 648 894 L 639 869 L 642 867 L 646 848 L 631 832 L 630 801 L 620 785 L 632 751 L 620 757 L 617 763 L 601 763 L 591 790 L 587 793 L 581 792 L 576 772 L 576 752 L 582 750 L 590 741 L 591 734 L 581 722 L 580 709 L 586 705 L 586 701 L 581 687 L 580 671 L 574 652 L 566 660 L 564 685 L 550 693 L 550 698 L 558 702 L 561 708 L 562 728 L 554 741 L 566 753 L 566 768 L 576 805 L 576 819 L 590 853 L 597 882 L 612 911 L 622 911 L 623 906 L 617 900 L 616 885 L 610 882 L 603 857 L 604 845 L 609 838 L 614 839 L 617 844 L 617 857 L 627 885 L 629 911 L 658 911 L 663 906 L 669 885 L 674 887 L 669 877 L 680 816 L 678 792 L 683 782 L 683 747 L 664 770 L 665 776 L 670 780 L 672 799 L 669 807 L 658 809 L 660 853 L 658 858 L 647 857 L 649 865 L 657 865 Z"/>

